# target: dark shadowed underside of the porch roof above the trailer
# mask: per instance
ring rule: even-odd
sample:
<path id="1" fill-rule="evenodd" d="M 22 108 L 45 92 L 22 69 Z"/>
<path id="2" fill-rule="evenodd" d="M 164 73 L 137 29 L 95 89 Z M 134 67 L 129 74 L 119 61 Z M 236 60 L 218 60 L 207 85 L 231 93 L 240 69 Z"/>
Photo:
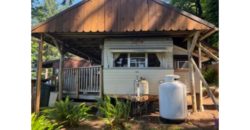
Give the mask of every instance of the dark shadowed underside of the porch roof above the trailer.
<path id="1" fill-rule="evenodd" d="M 101 63 L 101 49 L 105 38 L 143 38 L 143 37 L 177 37 L 185 38 L 192 31 L 173 31 L 173 32 L 137 32 L 137 33 L 46 33 L 53 36 L 59 44 L 61 44 L 66 52 L 70 52 L 77 56 L 91 59 L 93 62 Z M 41 34 L 33 33 L 34 37 L 39 38 Z M 50 37 L 44 35 L 46 43 L 53 46 L 54 43 Z"/>

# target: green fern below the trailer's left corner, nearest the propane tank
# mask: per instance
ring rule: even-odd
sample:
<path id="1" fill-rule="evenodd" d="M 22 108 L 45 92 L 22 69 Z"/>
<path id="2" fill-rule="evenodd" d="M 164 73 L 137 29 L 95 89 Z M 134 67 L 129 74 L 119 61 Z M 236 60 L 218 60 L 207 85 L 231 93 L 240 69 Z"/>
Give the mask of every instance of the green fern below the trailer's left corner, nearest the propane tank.
<path id="1" fill-rule="evenodd" d="M 115 98 L 115 105 L 113 105 L 111 98 L 104 96 L 104 99 L 98 102 L 98 109 L 105 123 L 113 128 L 114 124 L 120 124 L 129 119 L 131 102 L 119 101 Z"/>

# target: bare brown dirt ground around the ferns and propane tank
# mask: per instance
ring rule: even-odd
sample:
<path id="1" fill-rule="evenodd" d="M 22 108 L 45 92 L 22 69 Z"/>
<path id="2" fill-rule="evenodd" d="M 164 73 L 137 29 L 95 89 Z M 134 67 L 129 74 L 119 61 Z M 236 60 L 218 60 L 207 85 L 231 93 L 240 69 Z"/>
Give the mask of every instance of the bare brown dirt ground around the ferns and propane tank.
<path id="1" fill-rule="evenodd" d="M 127 130 L 217 130 L 216 119 L 218 119 L 218 111 L 212 105 L 212 100 L 209 97 L 204 97 L 204 111 L 191 113 L 191 106 L 189 106 L 188 117 L 185 122 L 180 124 L 163 123 L 159 118 L 159 112 L 150 113 L 148 115 L 141 115 L 132 118 L 128 122 L 124 122 Z M 188 104 L 191 104 L 191 97 L 188 97 Z M 82 122 L 78 127 L 63 128 L 62 130 L 102 130 L 105 128 L 105 123 L 101 119 L 91 119 Z"/>

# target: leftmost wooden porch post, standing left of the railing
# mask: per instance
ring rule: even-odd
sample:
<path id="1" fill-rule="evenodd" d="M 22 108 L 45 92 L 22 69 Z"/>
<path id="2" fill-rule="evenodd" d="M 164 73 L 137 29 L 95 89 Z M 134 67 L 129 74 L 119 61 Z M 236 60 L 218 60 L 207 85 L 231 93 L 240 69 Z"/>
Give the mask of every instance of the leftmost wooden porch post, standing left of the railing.
<path id="1" fill-rule="evenodd" d="M 37 60 L 37 79 L 36 79 L 36 106 L 35 112 L 40 111 L 40 98 L 41 98 L 41 74 L 42 74 L 42 62 L 43 62 L 43 34 L 41 34 L 41 39 L 38 48 L 38 60 Z"/>

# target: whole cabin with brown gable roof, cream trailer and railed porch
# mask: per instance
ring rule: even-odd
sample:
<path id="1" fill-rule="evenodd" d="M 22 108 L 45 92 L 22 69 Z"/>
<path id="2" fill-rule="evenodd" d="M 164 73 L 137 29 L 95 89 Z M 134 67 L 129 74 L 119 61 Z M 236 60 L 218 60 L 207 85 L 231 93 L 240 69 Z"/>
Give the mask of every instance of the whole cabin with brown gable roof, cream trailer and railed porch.
<path id="1" fill-rule="evenodd" d="M 147 95 L 157 96 L 172 74 L 187 93 L 201 94 L 200 69 L 209 60 L 202 42 L 217 30 L 161 0 L 83 0 L 33 27 L 32 36 L 57 47 L 60 63 L 65 52 L 91 59 L 97 66 L 59 65 L 59 98 L 95 99 L 134 95 L 140 79 L 148 83 Z"/>

